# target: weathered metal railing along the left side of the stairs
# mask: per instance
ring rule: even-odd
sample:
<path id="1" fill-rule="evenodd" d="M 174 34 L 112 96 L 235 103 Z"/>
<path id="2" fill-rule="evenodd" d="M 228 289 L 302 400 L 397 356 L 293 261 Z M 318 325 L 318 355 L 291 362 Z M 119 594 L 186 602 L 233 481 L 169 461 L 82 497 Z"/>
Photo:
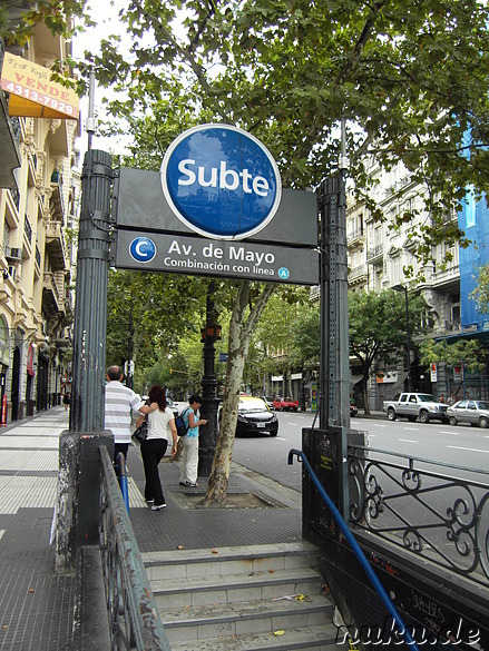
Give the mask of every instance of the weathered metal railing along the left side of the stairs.
<path id="1" fill-rule="evenodd" d="M 110 648 L 172 651 L 113 462 L 105 446 L 99 450 L 102 466 L 99 536 Z"/>

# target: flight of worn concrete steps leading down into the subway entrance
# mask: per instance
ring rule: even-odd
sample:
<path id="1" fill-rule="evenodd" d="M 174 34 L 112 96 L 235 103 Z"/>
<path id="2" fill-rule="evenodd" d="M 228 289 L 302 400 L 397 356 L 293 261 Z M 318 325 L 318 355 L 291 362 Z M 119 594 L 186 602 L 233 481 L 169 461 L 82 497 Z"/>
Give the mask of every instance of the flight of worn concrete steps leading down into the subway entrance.
<path id="1" fill-rule="evenodd" d="M 305 542 L 143 554 L 175 651 L 341 649 L 316 558 Z"/>

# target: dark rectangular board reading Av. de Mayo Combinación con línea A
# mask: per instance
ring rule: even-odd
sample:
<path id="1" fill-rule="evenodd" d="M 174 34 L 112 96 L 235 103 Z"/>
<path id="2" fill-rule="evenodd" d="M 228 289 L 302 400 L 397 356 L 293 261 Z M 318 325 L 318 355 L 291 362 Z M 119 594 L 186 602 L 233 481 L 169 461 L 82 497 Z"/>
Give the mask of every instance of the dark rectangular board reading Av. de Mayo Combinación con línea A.
<path id="1" fill-rule="evenodd" d="M 160 233 L 117 230 L 111 248 L 118 268 L 225 276 L 316 285 L 319 253 L 251 241 L 204 239 Z"/>

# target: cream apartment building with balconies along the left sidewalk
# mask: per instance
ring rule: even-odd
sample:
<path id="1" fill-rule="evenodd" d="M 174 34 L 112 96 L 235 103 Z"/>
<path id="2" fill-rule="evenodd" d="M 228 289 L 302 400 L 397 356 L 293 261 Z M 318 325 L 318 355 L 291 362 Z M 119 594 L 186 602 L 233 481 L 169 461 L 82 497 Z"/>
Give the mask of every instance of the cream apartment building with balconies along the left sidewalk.
<path id="1" fill-rule="evenodd" d="M 78 99 L 49 72 L 69 53 L 70 43 L 43 24 L 26 48 L 0 40 L 3 425 L 59 404 L 70 383 L 75 254 L 67 234 L 77 221 L 80 187 Z"/>

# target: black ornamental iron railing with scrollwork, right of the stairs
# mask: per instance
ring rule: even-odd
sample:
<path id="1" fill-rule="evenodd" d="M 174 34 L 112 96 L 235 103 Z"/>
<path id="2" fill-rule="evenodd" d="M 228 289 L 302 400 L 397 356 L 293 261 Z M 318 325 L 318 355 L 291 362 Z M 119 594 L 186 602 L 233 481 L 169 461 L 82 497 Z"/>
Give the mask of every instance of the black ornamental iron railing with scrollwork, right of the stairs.
<path id="1" fill-rule="evenodd" d="M 476 583 L 489 579 L 489 472 L 349 445 L 350 524 Z"/>

